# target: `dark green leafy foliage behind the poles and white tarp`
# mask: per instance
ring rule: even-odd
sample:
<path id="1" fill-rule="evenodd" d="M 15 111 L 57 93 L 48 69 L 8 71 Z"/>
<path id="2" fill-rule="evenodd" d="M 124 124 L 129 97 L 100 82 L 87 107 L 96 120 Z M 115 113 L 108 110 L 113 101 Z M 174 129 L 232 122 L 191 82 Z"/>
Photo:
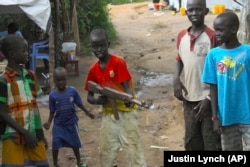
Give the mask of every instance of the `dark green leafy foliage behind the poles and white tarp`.
<path id="1" fill-rule="evenodd" d="M 111 45 L 115 43 L 117 39 L 117 32 L 115 30 L 112 21 L 110 20 L 108 4 L 124 4 L 130 2 L 142 2 L 145 0 L 76 0 L 77 2 L 77 15 L 79 35 L 82 45 L 83 53 L 88 53 L 88 34 L 95 28 L 103 28 L 109 35 Z M 65 0 L 65 7 L 67 11 L 70 11 L 70 4 L 68 0 Z M 51 2 L 52 3 L 52 2 Z M 51 5 L 52 8 L 54 5 Z M 53 11 L 54 9 L 52 9 Z M 52 12 L 52 15 L 54 12 Z M 52 16 L 53 18 L 53 16 Z M 7 30 L 7 26 L 10 22 L 16 22 L 19 25 L 20 31 L 29 43 L 40 40 L 42 32 L 36 24 L 31 21 L 25 14 L 3 14 L 0 15 L 0 31 Z M 59 32 L 61 33 L 61 32 Z"/>

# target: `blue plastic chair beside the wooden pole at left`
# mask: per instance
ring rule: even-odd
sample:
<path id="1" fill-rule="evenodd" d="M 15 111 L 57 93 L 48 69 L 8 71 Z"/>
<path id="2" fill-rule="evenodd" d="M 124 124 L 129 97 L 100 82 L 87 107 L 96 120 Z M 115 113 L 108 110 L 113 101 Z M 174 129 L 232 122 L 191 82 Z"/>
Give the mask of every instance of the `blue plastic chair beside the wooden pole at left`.
<path id="1" fill-rule="evenodd" d="M 32 43 L 32 52 L 30 54 L 30 70 L 36 72 L 36 60 L 47 59 L 49 60 L 49 54 L 41 52 L 42 48 L 49 48 L 49 40 Z"/>

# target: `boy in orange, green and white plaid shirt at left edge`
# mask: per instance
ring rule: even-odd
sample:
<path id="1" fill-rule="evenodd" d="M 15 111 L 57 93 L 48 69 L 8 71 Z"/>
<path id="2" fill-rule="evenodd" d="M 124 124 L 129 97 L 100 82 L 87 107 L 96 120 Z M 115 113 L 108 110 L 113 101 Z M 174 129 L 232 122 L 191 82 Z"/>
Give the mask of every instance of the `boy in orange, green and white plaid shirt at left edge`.
<path id="1" fill-rule="evenodd" d="M 23 68 L 28 44 L 17 35 L 9 35 L 3 39 L 1 51 L 8 60 L 0 76 L 1 166 L 49 167 L 36 101 L 42 90 L 35 74 Z"/>

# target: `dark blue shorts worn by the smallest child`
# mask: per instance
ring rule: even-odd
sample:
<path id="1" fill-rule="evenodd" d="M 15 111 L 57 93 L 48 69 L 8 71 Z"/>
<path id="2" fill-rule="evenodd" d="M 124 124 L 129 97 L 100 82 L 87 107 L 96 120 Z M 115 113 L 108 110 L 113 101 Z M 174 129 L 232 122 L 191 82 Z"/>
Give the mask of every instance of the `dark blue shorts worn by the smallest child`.
<path id="1" fill-rule="evenodd" d="M 81 141 L 78 132 L 77 124 L 67 126 L 54 124 L 52 150 L 58 150 L 61 147 L 80 148 Z"/>

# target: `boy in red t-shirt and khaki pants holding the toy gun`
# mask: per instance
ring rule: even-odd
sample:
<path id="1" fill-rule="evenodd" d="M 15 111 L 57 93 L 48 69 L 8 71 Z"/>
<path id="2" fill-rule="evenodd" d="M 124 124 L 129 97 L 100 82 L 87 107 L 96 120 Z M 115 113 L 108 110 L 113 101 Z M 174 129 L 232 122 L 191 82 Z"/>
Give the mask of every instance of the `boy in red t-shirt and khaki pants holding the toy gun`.
<path id="1" fill-rule="evenodd" d="M 95 29 L 90 33 L 90 46 L 98 61 L 94 63 L 88 72 L 85 90 L 88 90 L 88 81 L 94 81 L 101 86 L 107 86 L 118 91 L 134 95 L 132 77 L 123 58 L 115 54 L 109 54 L 108 35 L 103 29 Z M 120 147 L 127 152 L 128 167 L 146 167 L 144 160 L 139 128 L 138 116 L 135 107 L 131 104 L 116 100 L 119 120 L 114 118 L 112 102 L 108 97 L 94 97 L 94 93 L 88 91 L 88 102 L 95 105 L 103 105 L 104 115 L 100 130 L 100 162 L 101 167 L 116 166 L 117 155 Z M 119 166 L 119 165 L 118 165 Z"/>

